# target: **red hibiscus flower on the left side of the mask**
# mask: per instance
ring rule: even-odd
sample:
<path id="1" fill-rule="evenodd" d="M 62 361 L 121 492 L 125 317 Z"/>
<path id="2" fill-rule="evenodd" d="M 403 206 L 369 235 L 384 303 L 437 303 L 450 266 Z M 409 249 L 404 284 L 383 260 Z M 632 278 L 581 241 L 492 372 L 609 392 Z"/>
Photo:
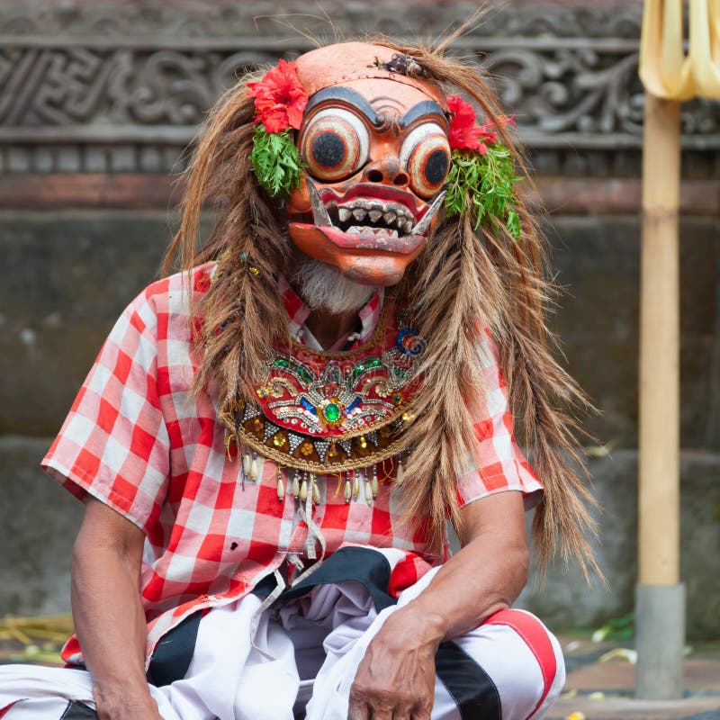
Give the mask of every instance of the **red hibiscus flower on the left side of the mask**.
<path id="1" fill-rule="evenodd" d="M 295 63 L 280 60 L 262 80 L 247 83 L 247 87 L 247 94 L 255 98 L 257 120 L 268 132 L 300 128 L 308 94 L 300 84 Z"/>

